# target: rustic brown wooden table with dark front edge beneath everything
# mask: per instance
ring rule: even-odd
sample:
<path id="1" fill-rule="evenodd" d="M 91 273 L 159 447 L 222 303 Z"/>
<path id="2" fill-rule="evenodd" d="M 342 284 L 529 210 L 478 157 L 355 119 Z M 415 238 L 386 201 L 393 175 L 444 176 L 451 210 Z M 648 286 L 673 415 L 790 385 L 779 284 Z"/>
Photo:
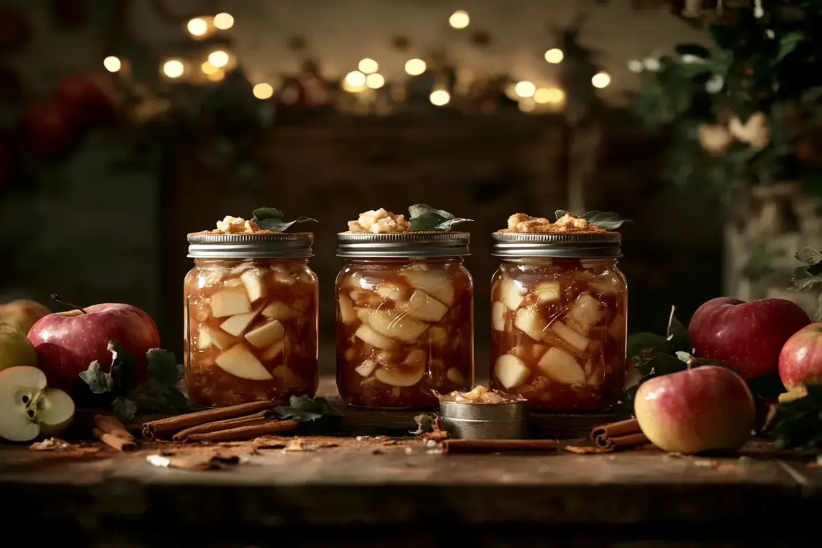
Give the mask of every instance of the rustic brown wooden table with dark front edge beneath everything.
<path id="1" fill-rule="evenodd" d="M 3 522 L 42 546 L 819 546 L 822 467 L 767 444 L 728 458 L 319 444 L 208 471 L 152 466 L 157 446 L 0 446 Z"/>

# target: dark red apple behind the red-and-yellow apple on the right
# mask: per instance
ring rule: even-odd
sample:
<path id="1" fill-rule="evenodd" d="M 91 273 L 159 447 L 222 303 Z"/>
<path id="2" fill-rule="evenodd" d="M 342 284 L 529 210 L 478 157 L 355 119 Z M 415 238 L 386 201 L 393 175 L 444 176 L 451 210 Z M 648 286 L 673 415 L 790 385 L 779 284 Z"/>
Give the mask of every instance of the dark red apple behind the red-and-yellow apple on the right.
<path id="1" fill-rule="evenodd" d="M 718 297 L 696 309 L 688 336 L 696 356 L 731 366 L 750 380 L 775 374 L 783 344 L 808 324 L 807 312 L 785 299 Z"/>

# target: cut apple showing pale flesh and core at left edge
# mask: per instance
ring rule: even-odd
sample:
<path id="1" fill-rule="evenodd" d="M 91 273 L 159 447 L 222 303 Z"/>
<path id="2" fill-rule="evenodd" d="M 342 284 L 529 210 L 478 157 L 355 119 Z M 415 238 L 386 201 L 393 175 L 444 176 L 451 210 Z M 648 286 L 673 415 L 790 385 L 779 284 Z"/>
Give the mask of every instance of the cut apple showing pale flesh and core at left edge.
<path id="1" fill-rule="evenodd" d="M 59 389 L 46 388 L 46 375 L 36 367 L 0 371 L 0 438 L 30 441 L 57 434 L 72 422 L 74 402 Z"/>

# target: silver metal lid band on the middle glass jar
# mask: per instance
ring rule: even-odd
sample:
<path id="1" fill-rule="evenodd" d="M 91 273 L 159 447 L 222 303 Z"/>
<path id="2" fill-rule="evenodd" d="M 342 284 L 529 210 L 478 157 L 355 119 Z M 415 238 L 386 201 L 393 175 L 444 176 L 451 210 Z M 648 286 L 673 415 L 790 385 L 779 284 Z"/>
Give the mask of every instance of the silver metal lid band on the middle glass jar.
<path id="1" fill-rule="evenodd" d="M 469 233 L 339 233 L 337 237 L 337 256 L 351 259 L 470 255 Z"/>

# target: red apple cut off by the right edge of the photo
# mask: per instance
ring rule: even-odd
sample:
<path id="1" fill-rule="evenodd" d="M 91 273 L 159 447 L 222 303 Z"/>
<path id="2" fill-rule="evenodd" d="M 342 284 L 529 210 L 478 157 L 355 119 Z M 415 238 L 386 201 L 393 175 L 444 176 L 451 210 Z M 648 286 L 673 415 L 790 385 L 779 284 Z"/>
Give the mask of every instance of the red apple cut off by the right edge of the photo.
<path id="1" fill-rule="evenodd" d="M 787 339 L 779 352 L 779 376 L 788 390 L 822 382 L 822 322 L 810 324 Z"/>

